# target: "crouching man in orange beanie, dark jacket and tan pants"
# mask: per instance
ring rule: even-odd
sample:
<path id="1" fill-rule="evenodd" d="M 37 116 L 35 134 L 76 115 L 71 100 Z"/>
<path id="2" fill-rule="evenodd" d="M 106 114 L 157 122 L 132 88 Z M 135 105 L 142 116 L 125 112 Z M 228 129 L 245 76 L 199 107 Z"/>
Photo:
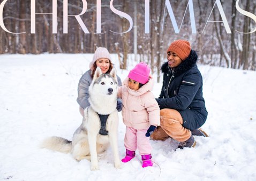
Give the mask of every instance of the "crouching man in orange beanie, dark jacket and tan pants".
<path id="1" fill-rule="evenodd" d="M 193 135 L 208 137 L 200 129 L 208 113 L 202 96 L 202 76 L 196 65 L 198 56 L 188 41 L 177 40 L 169 46 L 167 60 L 161 67 L 163 85 L 156 99 L 161 109 L 161 126 L 151 138 L 171 137 L 179 141 L 179 148 L 194 147 Z"/>

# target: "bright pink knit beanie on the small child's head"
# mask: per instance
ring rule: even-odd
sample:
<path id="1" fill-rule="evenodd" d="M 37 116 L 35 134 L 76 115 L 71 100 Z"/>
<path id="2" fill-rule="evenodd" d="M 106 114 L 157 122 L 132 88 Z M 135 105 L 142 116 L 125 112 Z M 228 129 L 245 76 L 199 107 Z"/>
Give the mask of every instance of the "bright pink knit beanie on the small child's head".
<path id="1" fill-rule="evenodd" d="M 145 84 L 149 79 L 150 68 L 145 62 L 137 64 L 128 74 L 128 77 L 132 80 Z"/>

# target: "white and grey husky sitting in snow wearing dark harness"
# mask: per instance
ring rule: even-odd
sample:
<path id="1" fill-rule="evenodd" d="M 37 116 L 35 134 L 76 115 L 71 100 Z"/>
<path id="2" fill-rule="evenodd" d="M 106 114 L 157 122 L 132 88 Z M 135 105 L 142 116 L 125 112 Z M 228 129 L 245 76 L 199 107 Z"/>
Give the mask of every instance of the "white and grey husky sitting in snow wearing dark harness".
<path id="1" fill-rule="evenodd" d="M 80 127 L 74 132 L 72 141 L 61 137 L 50 137 L 41 147 L 63 153 L 71 153 L 74 159 L 91 159 L 91 170 L 99 169 L 97 154 L 105 151 L 110 143 L 114 153 L 115 167 L 121 166 L 118 154 L 117 128 L 117 76 L 113 68 L 110 74 L 102 74 L 96 68 L 89 86 L 89 102 L 84 110 Z"/>

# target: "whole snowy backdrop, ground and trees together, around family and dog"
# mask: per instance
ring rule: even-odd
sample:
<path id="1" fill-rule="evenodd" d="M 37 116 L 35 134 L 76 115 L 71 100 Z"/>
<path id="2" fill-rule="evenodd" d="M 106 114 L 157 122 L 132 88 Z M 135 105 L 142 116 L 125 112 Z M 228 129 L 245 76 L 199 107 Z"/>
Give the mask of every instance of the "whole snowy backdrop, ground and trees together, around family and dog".
<path id="1" fill-rule="evenodd" d="M 43 13 L 35 15 L 35 33 L 31 33 L 33 1 L 36 13 Z M 54 1 L 57 2 L 56 34 L 52 33 L 52 14 L 46 14 L 52 13 Z M 113 32 L 127 31 L 130 23 L 111 11 L 111 1 L 0 0 L 0 180 L 255 181 L 256 32 L 253 31 L 256 20 L 237 11 L 238 0 L 114 0 L 114 7 L 133 20 L 128 33 L 117 34 Z M 189 10 L 185 13 L 191 1 L 195 34 Z M 81 18 L 89 34 L 84 33 L 74 17 L 68 18 L 68 33 L 63 33 L 65 2 L 69 3 L 70 15 L 80 14 L 83 2 L 87 2 Z M 102 34 L 96 34 L 96 2 L 101 2 Z M 150 7 L 149 34 L 145 33 L 145 2 Z M 166 9 L 164 13 L 165 2 L 174 11 L 180 28 L 177 34 Z M 216 2 L 223 7 L 231 34 L 223 22 L 217 22 L 223 20 Z M 255 0 L 239 0 L 239 6 L 256 17 Z M 10 32 L 26 33 L 8 33 L 3 25 Z M 133 161 L 117 170 L 108 149 L 99 156 L 100 170 L 91 171 L 86 159 L 77 162 L 71 154 L 39 147 L 41 140 L 49 136 L 71 140 L 81 124 L 77 85 L 97 46 L 108 48 L 122 80 L 138 61 L 146 61 L 154 79 L 160 78 L 153 90 L 157 97 L 162 87 L 162 74 L 158 71 L 167 61 L 168 46 L 178 38 L 189 40 L 199 54 L 198 67 L 209 113 L 202 128 L 209 137 L 195 136 L 197 146 L 183 150 L 176 149 L 178 143 L 171 138 L 152 140 L 152 168 L 142 168 L 137 154 Z M 125 125 L 121 113 L 118 134 L 122 158 Z"/>

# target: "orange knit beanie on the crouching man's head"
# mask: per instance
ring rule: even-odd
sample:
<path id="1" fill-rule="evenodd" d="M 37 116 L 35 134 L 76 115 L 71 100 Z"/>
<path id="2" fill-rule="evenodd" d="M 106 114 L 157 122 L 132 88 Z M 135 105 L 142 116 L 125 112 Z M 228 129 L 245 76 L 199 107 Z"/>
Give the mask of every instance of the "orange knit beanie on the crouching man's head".
<path id="1" fill-rule="evenodd" d="M 190 55 L 190 42 L 186 40 L 176 40 L 171 43 L 167 50 L 167 53 L 170 51 L 176 53 L 180 59 L 184 60 Z"/>

